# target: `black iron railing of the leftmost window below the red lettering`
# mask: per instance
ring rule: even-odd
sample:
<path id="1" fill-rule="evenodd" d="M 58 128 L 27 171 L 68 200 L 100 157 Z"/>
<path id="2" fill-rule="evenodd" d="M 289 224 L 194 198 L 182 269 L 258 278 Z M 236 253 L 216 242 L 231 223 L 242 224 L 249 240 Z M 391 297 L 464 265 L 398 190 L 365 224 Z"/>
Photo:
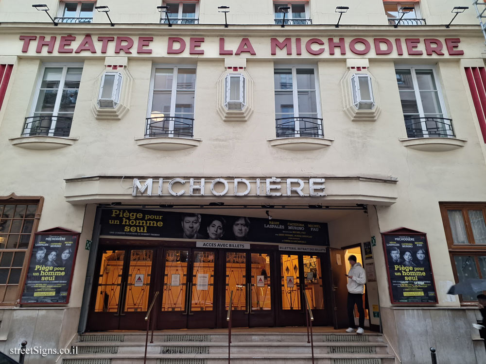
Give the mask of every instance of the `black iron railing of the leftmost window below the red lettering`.
<path id="1" fill-rule="evenodd" d="M 71 123 L 71 116 L 29 116 L 25 118 L 24 129 L 20 135 L 69 136 Z"/>

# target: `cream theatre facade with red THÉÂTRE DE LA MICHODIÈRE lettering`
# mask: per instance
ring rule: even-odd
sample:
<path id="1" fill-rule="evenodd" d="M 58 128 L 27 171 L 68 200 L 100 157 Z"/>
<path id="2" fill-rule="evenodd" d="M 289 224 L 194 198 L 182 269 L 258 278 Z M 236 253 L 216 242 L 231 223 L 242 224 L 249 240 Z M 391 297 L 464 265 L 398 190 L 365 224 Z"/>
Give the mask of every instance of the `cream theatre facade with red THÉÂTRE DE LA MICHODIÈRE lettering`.
<path id="1" fill-rule="evenodd" d="M 486 278 L 472 8 L 446 29 L 457 4 L 413 1 L 427 24 L 395 28 L 366 0 L 336 27 L 335 1 L 284 24 L 227 1 L 225 27 L 215 0 L 167 1 L 170 24 L 97 1 L 110 26 L 95 2 L 48 1 L 57 25 L 0 4 L 0 351 L 145 330 L 152 302 L 156 330 L 226 328 L 231 297 L 233 327 L 303 326 L 308 301 L 347 328 L 353 254 L 401 362 L 486 360 L 474 297 L 447 294 Z"/>

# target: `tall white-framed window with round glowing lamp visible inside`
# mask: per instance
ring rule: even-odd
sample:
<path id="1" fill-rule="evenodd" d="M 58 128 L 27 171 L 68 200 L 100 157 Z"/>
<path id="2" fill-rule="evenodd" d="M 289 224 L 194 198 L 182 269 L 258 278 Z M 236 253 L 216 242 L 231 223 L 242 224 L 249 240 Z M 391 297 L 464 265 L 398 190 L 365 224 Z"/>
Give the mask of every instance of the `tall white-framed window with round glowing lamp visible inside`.
<path id="1" fill-rule="evenodd" d="M 196 69 L 154 67 L 146 137 L 192 137 Z"/>

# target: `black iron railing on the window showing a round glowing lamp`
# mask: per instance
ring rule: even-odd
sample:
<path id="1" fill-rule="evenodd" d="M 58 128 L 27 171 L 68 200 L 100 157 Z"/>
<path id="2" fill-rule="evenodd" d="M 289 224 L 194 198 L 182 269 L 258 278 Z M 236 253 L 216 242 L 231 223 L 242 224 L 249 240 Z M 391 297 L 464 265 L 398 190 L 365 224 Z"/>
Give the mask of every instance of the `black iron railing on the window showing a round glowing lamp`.
<path id="1" fill-rule="evenodd" d="M 179 116 L 147 117 L 145 137 L 192 138 L 194 119 Z M 171 124 L 174 126 L 172 127 Z"/>

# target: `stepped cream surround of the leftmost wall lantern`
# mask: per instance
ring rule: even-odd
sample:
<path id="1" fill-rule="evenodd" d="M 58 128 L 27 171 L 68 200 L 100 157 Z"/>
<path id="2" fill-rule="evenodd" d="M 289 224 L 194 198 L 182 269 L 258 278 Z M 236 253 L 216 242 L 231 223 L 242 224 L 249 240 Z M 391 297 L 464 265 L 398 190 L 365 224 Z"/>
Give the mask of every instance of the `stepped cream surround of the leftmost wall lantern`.
<path id="1" fill-rule="evenodd" d="M 116 63 L 115 63 L 116 62 Z M 102 84 L 106 74 L 118 73 L 122 78 L 118 102 L 114 107 L 100 107 Z M 91 111 L 98 120 L 121 120 L 130 109 L 133 77 L 128 71 L 127 57 L 106 57 L 105 69 L 98 74 L 93 91 Z"/>

